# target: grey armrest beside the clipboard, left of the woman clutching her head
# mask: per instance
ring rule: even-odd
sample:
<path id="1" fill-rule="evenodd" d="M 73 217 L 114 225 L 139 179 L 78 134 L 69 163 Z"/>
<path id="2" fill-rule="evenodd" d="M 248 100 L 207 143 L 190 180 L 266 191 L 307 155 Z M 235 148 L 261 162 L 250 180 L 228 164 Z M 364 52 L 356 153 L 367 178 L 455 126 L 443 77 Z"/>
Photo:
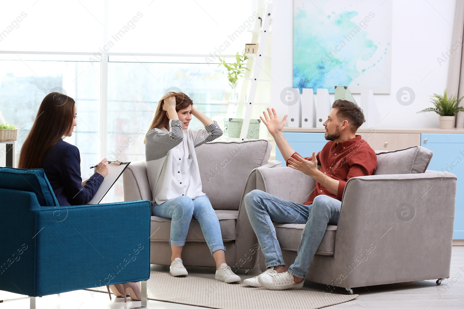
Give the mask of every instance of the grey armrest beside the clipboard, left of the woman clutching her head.
<path id="1" fill-rule="evenodd" d="M 153 201 L 145 160 L 131 162 L 122 174 L 124 201 Z"/>

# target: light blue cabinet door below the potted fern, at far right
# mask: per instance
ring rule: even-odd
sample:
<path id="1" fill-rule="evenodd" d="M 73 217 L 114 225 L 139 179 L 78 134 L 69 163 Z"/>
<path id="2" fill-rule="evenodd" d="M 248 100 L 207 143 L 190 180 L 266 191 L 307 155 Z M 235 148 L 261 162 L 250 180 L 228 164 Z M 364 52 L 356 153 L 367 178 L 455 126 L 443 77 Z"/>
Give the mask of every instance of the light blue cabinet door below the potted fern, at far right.
<path id="1" fill-rule="evenodd" d="M 458 177 L 453 239 L 464 239 L 464 134 L 422 133 L 420 145 L 433 151 L 427 170 L 447 170 Z"/>

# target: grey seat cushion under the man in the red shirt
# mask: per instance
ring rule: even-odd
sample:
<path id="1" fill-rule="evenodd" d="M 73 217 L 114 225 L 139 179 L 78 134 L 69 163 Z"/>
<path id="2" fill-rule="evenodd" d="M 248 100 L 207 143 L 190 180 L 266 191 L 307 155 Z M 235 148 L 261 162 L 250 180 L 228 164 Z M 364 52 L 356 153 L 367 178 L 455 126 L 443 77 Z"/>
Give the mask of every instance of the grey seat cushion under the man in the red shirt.
<path id="1" fill-rule="evenodd" d="M 280 248 L 287 251 L 297 251 L 300 244 L 301 234 L 305 224 L 294 223 L 276 223 L 276 236 L 279 240 Z M 324 237 L 322 238 L 316 254 L 319 255 L 334 255 L 335 250 L 335 234 L 337 232 L 336 225 L 327 225 Z"/>

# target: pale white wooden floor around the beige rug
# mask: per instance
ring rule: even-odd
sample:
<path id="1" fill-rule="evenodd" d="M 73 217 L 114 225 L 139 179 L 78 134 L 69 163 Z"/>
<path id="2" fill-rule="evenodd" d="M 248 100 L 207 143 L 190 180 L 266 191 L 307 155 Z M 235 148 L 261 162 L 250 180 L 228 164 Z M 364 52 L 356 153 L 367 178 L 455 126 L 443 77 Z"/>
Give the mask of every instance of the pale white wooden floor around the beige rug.
<path id="1" fill-rule="evenodd" d="M 433 252 L 430 252 L 433 254 Z M 152 265 L 154 271 L 169 271 L 168 266 Z M 198 277 L 214 277 L 214 269 L 209 267 L 187 267 L 190 275 Z M 245 279 L 260 273 L 258 267 L 245 276 Z M 306 282 L 303 289 L 323 291 L 325 285 Z M 336 288 L 335 293 L 345 293 L 342 288 Z M 278 293 L 278 291 L 276 291 Z M 453 246 L 451 254 L 451 275 L 441 285 L 435 280 L 407 282 L 402 284 L 387 284 L 354 289 L 359 297 L 348 303 L 342 303 L 326 308 L 464 308 L 464 246 Z M 21 295 L 0 291 L 0 300 L 17 298 Z M 127 309 L 140 306 L 140 302 L 114 298 L 110 301 L 108 294 L 77 290 L 60 295 L 37 297 L 38 309 Z M 29 300 L 18 300 L 0 303 L 0 309 L 28 309 Z M 181 305 L 148 300 L 148 308 L 156 309 L 193 309 L 194 306 Z M 199 307 L 197 307 L 199 308 Z"/>

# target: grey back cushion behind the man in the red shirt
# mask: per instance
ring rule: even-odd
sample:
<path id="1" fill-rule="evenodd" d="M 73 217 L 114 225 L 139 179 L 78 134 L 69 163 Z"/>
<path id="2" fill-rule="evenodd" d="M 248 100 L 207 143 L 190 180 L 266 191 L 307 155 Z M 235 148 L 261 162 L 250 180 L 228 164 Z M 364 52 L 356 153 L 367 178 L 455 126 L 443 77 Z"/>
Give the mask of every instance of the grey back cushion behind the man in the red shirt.
<path id="1" fill-rule="evenodd" d="M 377 170 L 374 175 L 425 173 L 433 152 L 421 146 L 393 151 L 375 151 Z"/>

